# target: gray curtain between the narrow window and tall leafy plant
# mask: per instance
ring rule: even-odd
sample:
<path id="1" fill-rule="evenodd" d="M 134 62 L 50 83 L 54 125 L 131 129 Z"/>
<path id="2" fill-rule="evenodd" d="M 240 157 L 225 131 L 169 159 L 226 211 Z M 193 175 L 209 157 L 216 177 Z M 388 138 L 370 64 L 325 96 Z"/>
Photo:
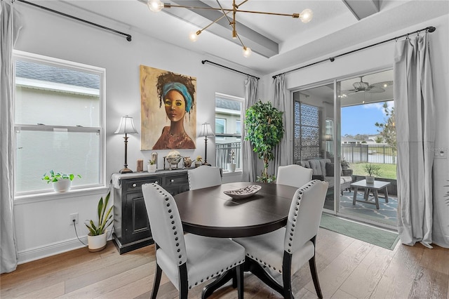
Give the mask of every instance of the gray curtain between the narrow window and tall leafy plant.
<path id="1" fill-rule="evenodd" d="M 243 106 L 246 109 L 254 105 L 257 96 L 257 79 L 255 77 L 250 77 L 245 81 L 245 101 Z M 243 124 L 245 119 L 245 112 L 243 113 Z M 244 126 L 244 125 L 243 125 Z M 242 180 L 243 182 L 255 182 L 257 176 L 257 157 L 255 152 L 253 152 L 253 147 L 250 142 L 245 140 L 246 130 L 243 129 L 241 132 L 241 154 L 242 154 Z"/>

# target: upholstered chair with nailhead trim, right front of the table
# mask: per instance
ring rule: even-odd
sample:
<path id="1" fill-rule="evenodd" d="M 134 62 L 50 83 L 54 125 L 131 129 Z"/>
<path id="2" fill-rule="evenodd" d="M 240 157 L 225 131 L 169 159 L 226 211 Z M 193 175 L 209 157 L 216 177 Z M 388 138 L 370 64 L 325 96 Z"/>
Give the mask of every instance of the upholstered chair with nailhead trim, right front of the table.
<path id="1" fill-rule="evenodd" d="M 328 182 L 312 180 L 295 192 L 286 227 L 233 239 L 245 247 L 246 267 L 283 298 L 293 298 L 291 277 L 307 260 L 316 295 L 323 298 L 316 272 L 315 242 L 327 190 Z M 282 284 L 274 279 L 273 272 L 281 274 Z"/>

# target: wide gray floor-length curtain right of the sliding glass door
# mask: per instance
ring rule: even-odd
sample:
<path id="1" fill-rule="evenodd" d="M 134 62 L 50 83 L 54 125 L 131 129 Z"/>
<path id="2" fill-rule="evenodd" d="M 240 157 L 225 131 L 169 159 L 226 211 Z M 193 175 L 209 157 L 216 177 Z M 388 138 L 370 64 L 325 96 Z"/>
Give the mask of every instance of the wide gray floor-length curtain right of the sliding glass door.
<path id="1" fill-rule="evenodd" d="M 435 118 L 429 36 L 398 41 L 394 102 L 398 141 L 398 233 L 401 242 L 432 243 Z"/>

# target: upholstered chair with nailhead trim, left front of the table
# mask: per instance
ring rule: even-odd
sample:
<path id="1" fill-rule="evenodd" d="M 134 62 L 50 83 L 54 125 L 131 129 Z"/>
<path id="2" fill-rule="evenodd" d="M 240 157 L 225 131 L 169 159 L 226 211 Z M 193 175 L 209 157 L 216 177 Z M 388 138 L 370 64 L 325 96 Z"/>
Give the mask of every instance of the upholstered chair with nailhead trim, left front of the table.
<path id="1" fill-rule="evenodd" d="M 142 193 L 156 246 L 152 298 L 156 298 L 159 290 L 162 271 L 179 291 L 179 298 L 187 298 L 190 288 L 235 268 L 242 299 L 245 249 L 227 238 L 184 235 L 171 194 L 154 183 L 142 185 Z"/>

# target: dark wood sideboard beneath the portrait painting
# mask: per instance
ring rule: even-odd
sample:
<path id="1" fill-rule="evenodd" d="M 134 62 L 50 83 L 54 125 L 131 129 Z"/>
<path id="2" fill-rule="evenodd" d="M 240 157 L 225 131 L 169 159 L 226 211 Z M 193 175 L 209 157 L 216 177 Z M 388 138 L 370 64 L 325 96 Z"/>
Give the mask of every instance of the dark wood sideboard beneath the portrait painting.
<path id="1" fill-rule="evenodd" d="M 142 185 L 156 182 L 175 195 L 189 190 L 187 169 L 114 173 L 114 244 L 120 254 L 153 244 Z"/>

